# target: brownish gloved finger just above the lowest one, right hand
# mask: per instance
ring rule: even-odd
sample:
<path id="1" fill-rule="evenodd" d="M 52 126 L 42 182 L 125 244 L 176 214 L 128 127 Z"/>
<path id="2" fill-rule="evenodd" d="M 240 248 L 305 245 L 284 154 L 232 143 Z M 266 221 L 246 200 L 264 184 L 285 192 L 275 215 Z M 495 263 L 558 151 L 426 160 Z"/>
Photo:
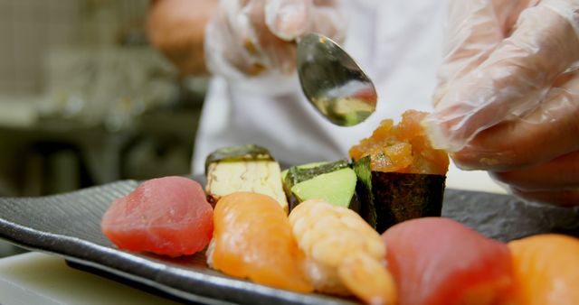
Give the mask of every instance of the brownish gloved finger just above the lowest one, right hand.
<path id="1" fill-rule="evenodd" d="M 512 171 L 579 150 L 579 71 L 555 81 L 546 101 L 522 118 L 486 129 L 451 156 L 462 169 Z"/>

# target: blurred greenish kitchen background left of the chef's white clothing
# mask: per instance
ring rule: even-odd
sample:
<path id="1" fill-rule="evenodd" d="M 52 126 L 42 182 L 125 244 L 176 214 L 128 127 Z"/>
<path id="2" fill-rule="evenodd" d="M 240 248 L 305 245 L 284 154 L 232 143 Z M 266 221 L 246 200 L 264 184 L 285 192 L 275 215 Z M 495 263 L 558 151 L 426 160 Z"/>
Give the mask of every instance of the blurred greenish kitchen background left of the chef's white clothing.
<path id="1" fill-rule="evenodd" d="M 206 79 L 147 44 L 147 5 L 0 0 L 0 197 L 189 173 Z"/>

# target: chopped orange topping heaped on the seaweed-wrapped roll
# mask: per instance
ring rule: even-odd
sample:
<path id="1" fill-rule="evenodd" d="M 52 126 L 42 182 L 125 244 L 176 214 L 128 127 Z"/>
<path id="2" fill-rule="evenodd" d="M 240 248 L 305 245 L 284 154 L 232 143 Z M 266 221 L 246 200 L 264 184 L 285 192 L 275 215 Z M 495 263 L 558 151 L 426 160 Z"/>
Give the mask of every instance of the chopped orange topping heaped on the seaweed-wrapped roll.
<path id="1" fill-rule="evenodd" d="M 416 110 L 403 113 L 402 121 L 386 119 L 372 136 L 350 148 L 350 157 L 371 157 L 372 171 L 396 171 L 444 175 L 449 170 L 449 156 L 435 150 L 420 125 L 428 114 Z"/>

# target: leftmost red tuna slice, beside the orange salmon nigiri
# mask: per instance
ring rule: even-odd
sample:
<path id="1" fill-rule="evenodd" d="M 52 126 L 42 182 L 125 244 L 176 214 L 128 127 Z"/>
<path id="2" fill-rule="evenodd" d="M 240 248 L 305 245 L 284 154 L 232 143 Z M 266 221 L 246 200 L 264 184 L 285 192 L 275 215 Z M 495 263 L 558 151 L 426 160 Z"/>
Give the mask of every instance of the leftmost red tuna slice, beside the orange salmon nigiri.
<path id="1" fill-rule="evenodd" d="M 194 180 L 147 180 L 113 201 L 100 227 L 120 249 L 169 256 L 195 254 L 213 235 L 213 208 Z"/>

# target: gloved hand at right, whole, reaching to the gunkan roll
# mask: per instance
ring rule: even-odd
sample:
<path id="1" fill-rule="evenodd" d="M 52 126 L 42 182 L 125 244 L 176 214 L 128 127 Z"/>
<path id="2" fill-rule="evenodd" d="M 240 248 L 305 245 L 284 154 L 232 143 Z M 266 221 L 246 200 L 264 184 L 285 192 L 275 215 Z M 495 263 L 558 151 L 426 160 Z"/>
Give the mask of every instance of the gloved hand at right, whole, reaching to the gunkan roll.
<path id="1" fill-rule="evenodd" d="M 464 169 L 579 205 L 579 0 L 453 0 L 423 125 Z"/>

